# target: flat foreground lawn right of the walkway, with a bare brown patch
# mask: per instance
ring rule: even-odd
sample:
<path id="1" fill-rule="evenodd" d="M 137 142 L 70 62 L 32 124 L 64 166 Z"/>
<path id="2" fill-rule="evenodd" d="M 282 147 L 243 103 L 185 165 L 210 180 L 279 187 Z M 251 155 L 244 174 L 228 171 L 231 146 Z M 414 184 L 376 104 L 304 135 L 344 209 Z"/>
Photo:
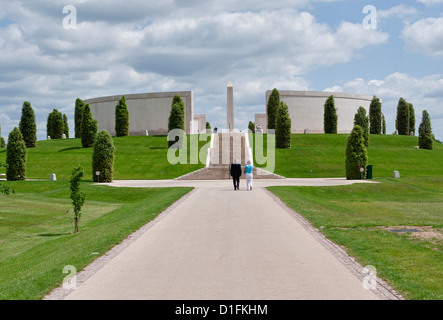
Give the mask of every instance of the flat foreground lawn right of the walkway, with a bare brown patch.
<path id="1" fill-rule="evenodd" d="M 375 266 L 377 275 L 406 298 L 442 300 L 443 177 L 378 181 L 268 189 L 362 266 Z M 413 233 L 382 228 L 398 226 L 429 226 L 440 232 L 440 239 L 418 239 Z"/>

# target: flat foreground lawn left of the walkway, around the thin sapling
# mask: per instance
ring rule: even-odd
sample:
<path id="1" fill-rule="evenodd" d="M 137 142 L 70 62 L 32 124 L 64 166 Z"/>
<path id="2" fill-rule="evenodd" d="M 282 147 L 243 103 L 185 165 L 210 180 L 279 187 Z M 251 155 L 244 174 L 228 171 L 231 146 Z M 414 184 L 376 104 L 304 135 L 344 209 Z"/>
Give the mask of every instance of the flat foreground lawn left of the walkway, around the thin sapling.
<path id="1" fill-rule="evenodd" d="M 80 233 L 72 234 L 69 182 L 10 183 L 0 194 L 0 299 L 41 299 L 192 188 L 112 188 L 83 182 Z M 67 210 L 70 210 L 67 213 Z M 98 253 L 98 254 L 96 254 Z"/>

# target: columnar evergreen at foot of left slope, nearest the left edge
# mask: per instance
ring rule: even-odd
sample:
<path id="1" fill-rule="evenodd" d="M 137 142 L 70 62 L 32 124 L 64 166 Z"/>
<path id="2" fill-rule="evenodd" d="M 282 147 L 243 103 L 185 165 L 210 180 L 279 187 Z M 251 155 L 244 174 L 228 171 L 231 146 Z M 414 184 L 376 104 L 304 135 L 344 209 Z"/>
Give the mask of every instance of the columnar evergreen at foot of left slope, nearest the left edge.
<path id="1" fill-rule="evenodd" d="M 6 179 L 8 181 L 25 180 L 27 153 L 22 133 L 18 128 L 14 128 L 9 134 L 6 148 Z"/>

